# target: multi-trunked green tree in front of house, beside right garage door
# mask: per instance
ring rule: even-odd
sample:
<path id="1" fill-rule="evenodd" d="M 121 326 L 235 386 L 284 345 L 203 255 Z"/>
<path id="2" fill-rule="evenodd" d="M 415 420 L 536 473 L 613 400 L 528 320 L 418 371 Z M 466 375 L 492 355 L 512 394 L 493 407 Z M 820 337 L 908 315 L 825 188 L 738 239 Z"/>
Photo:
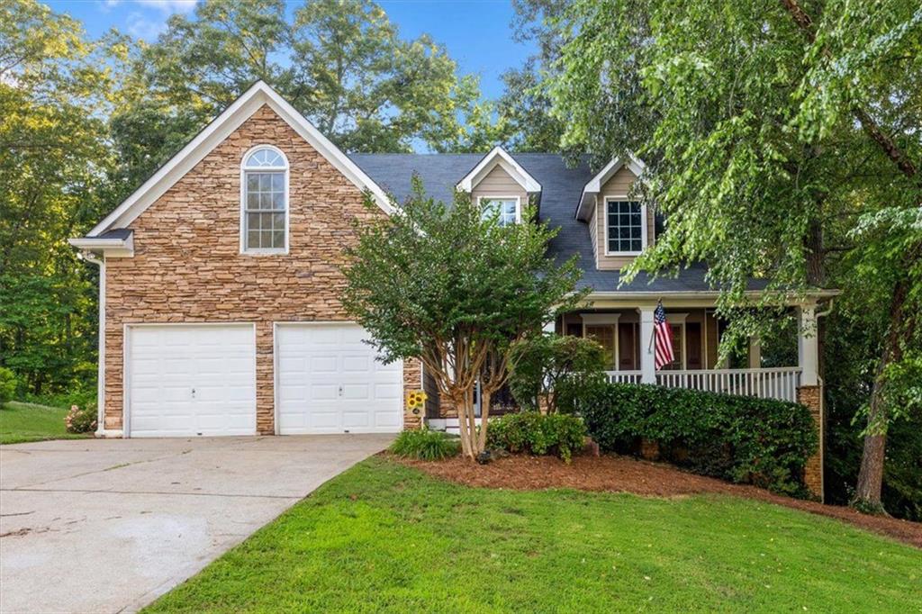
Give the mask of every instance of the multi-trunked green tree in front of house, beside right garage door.
<path id="1" fill-rule="evenodd" d="M 584 297 L 580 272 L 573 258 L 548 256 L 557 230 L 535 221 L 531 207 L 523 223 L 503 227 L 468 195 L 446 206 L 413 182 L 394 215 L 356 225 L 343 302 L 382 360 L 422 362 L 456 407 L 462 451 L 474 458 L 487 441 L 491 395 L 514 366 L 511 348 Z"/>

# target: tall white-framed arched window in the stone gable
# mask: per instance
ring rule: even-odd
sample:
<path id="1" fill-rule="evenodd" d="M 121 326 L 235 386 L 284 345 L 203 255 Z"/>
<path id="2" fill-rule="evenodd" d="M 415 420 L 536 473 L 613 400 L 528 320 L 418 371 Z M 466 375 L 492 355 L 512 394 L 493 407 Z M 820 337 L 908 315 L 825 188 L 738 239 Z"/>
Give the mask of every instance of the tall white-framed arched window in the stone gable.
<path id="1" fill-rule="evenodd" d="M 261 145 L 243 156 L 241 248 L 247 254 L 288 252 L 289 164 Z"/>

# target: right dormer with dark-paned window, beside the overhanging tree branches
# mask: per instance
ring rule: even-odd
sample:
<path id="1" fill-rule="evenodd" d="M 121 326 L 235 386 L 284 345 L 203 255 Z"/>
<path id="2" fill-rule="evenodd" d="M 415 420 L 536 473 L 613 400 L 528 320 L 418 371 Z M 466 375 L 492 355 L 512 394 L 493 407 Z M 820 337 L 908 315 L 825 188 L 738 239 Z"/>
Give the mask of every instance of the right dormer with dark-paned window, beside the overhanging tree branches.
<path id="1" fill-rule="evenodd" d="M 653 211 L 632 195 L 644 168 L 639 159 L 613 159 L 583 188 L 576 218 L 588 224 L 600 270 L 630 265 L 656 239 Z"/>

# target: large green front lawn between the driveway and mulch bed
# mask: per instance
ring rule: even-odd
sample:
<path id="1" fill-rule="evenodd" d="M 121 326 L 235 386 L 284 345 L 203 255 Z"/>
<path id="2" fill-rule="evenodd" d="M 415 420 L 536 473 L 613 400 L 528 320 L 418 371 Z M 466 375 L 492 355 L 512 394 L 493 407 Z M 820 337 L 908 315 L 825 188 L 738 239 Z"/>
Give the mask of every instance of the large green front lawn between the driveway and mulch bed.
<path id="1" fill-rule="evenodd" d="M 918 612 L 922 551 L 727 496 L 481 490 L 372 458 L 146 612 Z"/>

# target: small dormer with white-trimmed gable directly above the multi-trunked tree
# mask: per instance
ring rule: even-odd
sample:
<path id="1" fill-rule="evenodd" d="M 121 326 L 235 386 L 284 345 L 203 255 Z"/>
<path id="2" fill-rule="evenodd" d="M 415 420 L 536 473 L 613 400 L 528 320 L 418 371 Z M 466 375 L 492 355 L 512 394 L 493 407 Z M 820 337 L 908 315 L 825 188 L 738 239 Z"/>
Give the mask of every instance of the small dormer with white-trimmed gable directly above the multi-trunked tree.
<path id="1" fill-rule="evenodd" d="M 501 224 L 522 221 L 526 204 L 541 193 L 541 184 L 501 147 L 480 159 L 455 187 L 470 194 L 483 210 L 498 215 Z"/>

